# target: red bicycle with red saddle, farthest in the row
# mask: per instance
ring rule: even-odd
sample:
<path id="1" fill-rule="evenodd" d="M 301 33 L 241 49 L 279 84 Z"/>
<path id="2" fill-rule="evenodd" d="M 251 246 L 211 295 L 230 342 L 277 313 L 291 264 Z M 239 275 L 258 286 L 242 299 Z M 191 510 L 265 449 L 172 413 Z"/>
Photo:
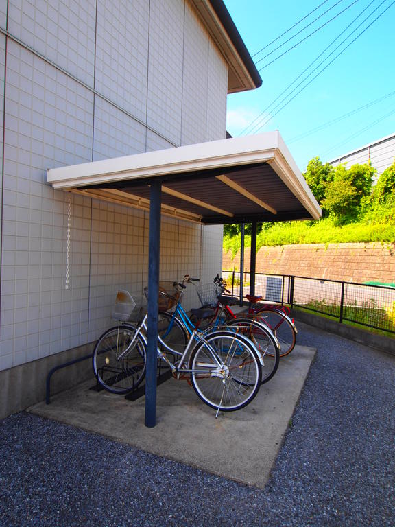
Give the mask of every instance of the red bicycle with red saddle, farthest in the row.
<path id="1" fill-rule="evenodd" d="M 212 305 L 215 309 L 215 314 L 211 320 L 208 320 L 208 325 L 211 325 L 215 318 L 230 321 L 240 318 L 240 316 L 244 318 L 251 317 L 254 320 L 264 323 L 272 330 L 280 345 L 280 358 L 286 357 L 291 353 L 296 344 L 298 330 L 296 329 L 294 321 L 289 317 L 289 311 L 287 312 L 286 307 L 273 304 L 261 304 L 262 296 L 251 296 L 247 294 L 246 298 L 250 301 L 248 312 L 244 312 L 242 315 L 235 314 L 230 309 L 230 306 L 238 303 L 239 299 L 224 295 L 224 292 L 230 294 L 230 291 L 226 289 L 226 281 L 219 277 L 219 274 L 213 280 L 213 284 L 203 286 L 202 290 L 200 292 L 198 291 L 202 304 Z"/>

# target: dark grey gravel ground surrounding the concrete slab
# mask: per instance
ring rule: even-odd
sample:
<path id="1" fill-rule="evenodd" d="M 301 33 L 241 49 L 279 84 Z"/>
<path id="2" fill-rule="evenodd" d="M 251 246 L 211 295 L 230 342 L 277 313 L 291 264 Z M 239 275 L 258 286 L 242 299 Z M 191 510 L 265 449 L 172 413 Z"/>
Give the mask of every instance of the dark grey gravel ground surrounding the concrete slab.
<path id="1" fill-rule="evenodd" d="M 0 526 L 394 527 L 395 357 L 298 327 L 318 353 L 265 490 L 22 412 L 0 421 Z"/>

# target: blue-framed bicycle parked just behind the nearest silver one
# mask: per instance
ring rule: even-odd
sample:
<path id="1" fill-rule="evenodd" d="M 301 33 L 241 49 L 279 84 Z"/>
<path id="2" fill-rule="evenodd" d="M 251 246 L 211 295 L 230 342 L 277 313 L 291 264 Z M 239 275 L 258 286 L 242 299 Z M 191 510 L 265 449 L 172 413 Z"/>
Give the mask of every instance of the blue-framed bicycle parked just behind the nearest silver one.
<path id="1" fill-rule="evenodd" d="M 177 345 L 182 350 L 187 345 L 191 331 L 205 332 L 219 328 L 232 329 L 232 331 L 237 331 L 252 340 L 261 356 L 261 384 L 270 381 L 276 373 L 280 362 L 278 341 L 270 328 L 260 323 L 259 320 L 252 318 L 237 317 L 224 322 L 219 317 L 215 318 L 215 311 L 207 306 L 200 309 L 191 309 L 191 316 L 189 316 L 182 307 L 182 291 L 186 288 L 186 283 L 193 284 L 193 282 L 198 281 L 200 280 L 185 275 L 182 283 L 173 282 L 171 284 L 173 288 L 176 288 L 175 294 L 162 292 L 163 296 L 167 294 L 169 305 L 160 312 L 161 338 L 172 342 L 173 345 Z M 170 309 L 173 309 L 173 311 L 170 311 Z M 193 322 L 193 318 L 195 318 L 196 323 Z M 207 318 L 211 319 L 211 324 L 201 328 L 198 322 Z"/>

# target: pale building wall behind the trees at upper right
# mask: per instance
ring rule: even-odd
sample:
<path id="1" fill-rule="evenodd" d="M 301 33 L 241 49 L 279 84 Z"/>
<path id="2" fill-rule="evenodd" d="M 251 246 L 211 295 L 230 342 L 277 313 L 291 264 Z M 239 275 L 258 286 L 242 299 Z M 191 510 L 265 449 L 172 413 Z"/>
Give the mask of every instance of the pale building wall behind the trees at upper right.
<path id="1" fill-rule="evenodd" d="M 329 161 L 329 164 L 337 167 L 341 163 L 347 163 L 349 168 L 356 163 L 363 165 L 364 163 L 368 163 L 368 161 L 377 170 L 377 177 L 381 176 L 384 170 L 390 167 L 395 161 L 395 134 L 383 137 L 379 141 L 344 154 L 338 159 Z"/>

